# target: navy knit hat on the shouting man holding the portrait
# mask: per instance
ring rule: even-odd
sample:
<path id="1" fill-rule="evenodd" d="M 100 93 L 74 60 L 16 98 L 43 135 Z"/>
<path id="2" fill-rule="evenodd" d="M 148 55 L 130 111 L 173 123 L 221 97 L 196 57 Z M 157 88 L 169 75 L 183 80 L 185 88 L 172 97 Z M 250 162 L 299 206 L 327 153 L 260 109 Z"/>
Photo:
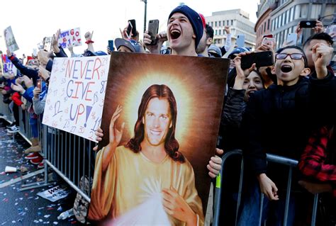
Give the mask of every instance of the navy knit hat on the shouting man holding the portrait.
<path id="1" fill-rule="evenodd" d="M 199 16 L 199 14 L 196 13 L 196 11 L 194 11 L 194 9 L 189 8 L 189 6 L 181 5 L 173 9 L 173 11 L 168 16 L 168 21 L 169 18 L 171 18 L 174 13 L 182 13 L 189 19 L 191 26 L 193 27 L 194 33 L 196 35 L 195 39 L 195 49 L 196 49 L 203 35 L 203 23 L 201 16 Z"/>

